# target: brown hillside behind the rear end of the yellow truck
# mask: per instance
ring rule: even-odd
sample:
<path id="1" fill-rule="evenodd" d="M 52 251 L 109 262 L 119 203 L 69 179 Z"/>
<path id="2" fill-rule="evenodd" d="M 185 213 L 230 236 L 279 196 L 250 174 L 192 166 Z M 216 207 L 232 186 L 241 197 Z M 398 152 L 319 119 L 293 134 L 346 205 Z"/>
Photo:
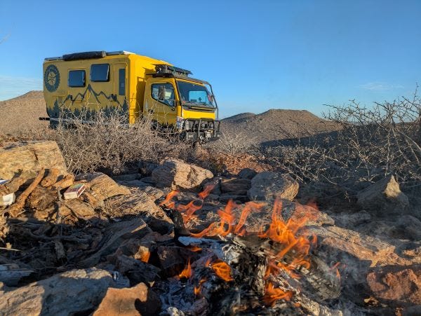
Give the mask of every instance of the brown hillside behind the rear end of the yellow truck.
<path id="1" fill-rule="evenodd" d="M 38 119 L 47 116 L 42 91 L 29 91 L 25 95 L 0 101 L 0 113 L 0 134 L 17 135 L 48 124 Z"/>

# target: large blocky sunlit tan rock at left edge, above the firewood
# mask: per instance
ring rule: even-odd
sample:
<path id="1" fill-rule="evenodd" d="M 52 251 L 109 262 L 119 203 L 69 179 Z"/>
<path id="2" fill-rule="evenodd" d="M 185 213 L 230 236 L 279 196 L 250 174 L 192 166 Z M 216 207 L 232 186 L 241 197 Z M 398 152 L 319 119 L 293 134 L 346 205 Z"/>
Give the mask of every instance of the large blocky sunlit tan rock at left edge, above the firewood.
<path id="1" fill-rule="evenodd" d="M 67 174 L 67 167 L 56 142 L 19 142 L 0 149 L 0 179 L 12 179 L 19 170 L 38 172 L 41 167 L 57 168 Z"/>

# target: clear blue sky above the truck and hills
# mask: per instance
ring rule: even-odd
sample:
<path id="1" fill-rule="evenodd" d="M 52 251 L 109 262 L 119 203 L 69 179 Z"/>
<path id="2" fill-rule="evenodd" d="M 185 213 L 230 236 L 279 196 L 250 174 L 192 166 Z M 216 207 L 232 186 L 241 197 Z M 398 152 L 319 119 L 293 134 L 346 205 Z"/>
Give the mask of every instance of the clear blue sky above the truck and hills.
<path id="1" fill-rule="evenodd" d="M 220 116 L 326 111 L 421 84 L 421 1 L 0 0 L 0 100 L 42 89 L 44 57 L 129 50 L 213 84 Z"/>

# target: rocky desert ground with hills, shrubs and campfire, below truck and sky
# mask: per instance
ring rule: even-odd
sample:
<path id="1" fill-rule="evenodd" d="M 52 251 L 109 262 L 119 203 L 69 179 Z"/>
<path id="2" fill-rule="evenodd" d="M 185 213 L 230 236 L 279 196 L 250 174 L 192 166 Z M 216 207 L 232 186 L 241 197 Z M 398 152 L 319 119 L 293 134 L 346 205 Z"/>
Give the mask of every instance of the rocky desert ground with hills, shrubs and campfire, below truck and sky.
<path id="1" fill-rule="evenodd" d="M 411 102 L 238 114 L 201 147 L 0 102 L 0 313 L 420 315 Z"/>

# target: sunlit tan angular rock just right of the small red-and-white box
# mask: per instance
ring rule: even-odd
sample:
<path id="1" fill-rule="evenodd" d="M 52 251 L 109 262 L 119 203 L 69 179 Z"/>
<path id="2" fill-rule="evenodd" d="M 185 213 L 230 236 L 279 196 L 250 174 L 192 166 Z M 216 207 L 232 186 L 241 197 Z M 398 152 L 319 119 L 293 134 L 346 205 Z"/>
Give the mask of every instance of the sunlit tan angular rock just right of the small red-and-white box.
<path id="1" fill-rule="evenodd" d="M 86 186 L 95 193 L 95 196 L 102 200 L 116 195 L 128 195 L 131 193 L 128 188 L 116 184 L 116 181 L 101 172 L 81 174 L 76 180 L 86 181 Z"/>

